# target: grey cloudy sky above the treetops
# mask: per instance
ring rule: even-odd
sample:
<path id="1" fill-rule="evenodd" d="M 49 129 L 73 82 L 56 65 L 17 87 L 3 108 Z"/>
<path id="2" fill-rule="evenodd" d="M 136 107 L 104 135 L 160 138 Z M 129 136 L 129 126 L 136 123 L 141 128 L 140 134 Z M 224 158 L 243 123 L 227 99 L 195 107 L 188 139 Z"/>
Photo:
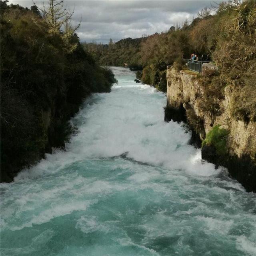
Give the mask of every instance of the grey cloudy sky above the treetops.
<path id="1" fill-rule="evenodd" d="M 32 0 L 9 0 L 24 7 Z M 40 6 L 41 0 L 35 0 Z M 46 4 L 48 0 L 45 0 Z M 74 9 L 73 20 L 82 18 L 77 32 L 81 41 L 108 43 L 122 38 L 138 38 L 168 30 L 171 26 L 191 22 L 199 10 L 210 6 L 209 0 L 67 0 Z M 216 1 L 214 1 L 216 2 Z"/>

